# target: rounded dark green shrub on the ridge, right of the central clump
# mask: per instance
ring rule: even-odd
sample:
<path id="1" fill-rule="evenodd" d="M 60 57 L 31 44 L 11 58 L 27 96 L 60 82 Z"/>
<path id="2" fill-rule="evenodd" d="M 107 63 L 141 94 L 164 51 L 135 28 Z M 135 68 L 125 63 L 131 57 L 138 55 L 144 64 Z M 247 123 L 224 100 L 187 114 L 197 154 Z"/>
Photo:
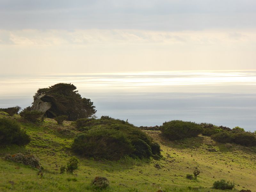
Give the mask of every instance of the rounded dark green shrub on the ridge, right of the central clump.
<path id="1" fill-rule="evenodd" d="M 161 131 L 170 140 L 180 140 L 196 137 L 203 129 L 199 124 L 193 122 L 173 120 L 163 123 Z"/>

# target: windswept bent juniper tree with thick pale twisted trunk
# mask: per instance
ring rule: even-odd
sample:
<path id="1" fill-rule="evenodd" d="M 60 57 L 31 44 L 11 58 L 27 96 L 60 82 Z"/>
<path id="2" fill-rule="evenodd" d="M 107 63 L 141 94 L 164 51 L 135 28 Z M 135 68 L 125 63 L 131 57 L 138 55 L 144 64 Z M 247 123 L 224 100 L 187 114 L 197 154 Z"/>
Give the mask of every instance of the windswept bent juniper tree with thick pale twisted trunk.
<path id="1" fill-rule="evenodd" d="M 69 121 L 95 116 L 93 102 L 75 90 L 75 85 L 66 83 L 38 89 L 31 110 L 43 112 L 49 118 L 66 115 Z"/>

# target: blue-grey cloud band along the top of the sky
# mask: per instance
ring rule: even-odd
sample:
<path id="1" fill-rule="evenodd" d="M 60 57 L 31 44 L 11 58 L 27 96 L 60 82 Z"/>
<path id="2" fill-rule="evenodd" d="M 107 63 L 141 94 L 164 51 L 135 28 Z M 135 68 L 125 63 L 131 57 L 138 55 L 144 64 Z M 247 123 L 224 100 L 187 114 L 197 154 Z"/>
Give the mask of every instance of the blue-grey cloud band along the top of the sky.
<path id="1" fill-rule="evenodd" d="M 255 28 L 254 0 L 2 0 L 0 28 L 202 30 Z"/>

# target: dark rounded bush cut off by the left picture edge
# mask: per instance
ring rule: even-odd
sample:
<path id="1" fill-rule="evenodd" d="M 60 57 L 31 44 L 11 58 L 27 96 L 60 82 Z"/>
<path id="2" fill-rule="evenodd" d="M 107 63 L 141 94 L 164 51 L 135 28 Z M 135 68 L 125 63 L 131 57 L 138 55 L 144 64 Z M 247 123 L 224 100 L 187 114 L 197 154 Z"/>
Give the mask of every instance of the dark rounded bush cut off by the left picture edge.
<path id="1" fill-rule="evenodd" d="M 13 119 L 0 118 L 0 145 L 26 145 L 30 137 Z"/>

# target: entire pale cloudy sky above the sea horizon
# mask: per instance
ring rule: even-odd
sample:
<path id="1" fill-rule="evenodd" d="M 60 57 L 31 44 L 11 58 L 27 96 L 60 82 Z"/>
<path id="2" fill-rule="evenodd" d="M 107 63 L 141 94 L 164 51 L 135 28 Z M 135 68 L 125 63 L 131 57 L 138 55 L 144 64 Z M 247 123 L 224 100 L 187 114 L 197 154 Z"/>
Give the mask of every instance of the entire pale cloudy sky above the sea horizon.
<path id="1" fill-rule="evenodd" d="M 0 74 L 255 69 L 254 0 L 0 0 Z"/>

